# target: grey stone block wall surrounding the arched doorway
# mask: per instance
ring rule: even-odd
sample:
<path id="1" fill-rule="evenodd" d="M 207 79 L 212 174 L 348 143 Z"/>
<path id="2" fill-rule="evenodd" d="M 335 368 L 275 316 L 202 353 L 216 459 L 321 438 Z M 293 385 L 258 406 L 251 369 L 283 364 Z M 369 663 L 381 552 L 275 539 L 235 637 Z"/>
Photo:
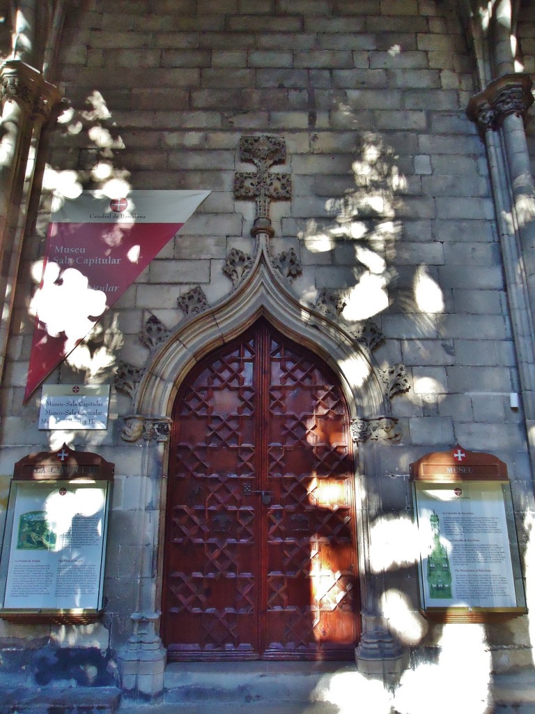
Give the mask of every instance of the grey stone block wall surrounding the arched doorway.
<path id="1" fill-rule="evenodd" d="M 465 115 L 477 91 L 474 66 L 450 4 L 90 0 L 69 11 L 60 70 L 68 106 L 51 134 L 44 210 L 24 253 L 1 406 L 1 441 L 10 448 L 1 452 L 2 473 L 14 453 L 63 439 L 37 430 L 37 396 L 21 406 L 47 192 L 76 195 L 110 181 L 212 191 L 49 378 L 113 381 L 118 360 L 146 365 L 138 333 L 151 313 L 174 328 L 185 319 L 177 298 L 191 288 L 200 286 L 211 304 L 230 292 L 228 253 L 254 248 L 254 204 L 233 193 L 235 172 L 253 169 L 240 162 L 240 137 L 281 136 L 287 160 L 272 170 L 290 172 L 292 198 L 272 203 L 272 251 L 293 248 L 299 258 L 290 289 L 309 304 L 324 288 L 342 291 L 342 319 L 372 318 L 386 338 L 379 366 L 409 371 L 411 390 L 392 403 L 402 439 L 384 442 L 374 473 L 365 474 L 379 504 L 372 558 L 386 570 L 379 586 L 392 628 L 409 645 L 436 647 L 441 630 L 417 614 L 414 553 L 399 538 L 411 531 L 409 463 L 459 442 L 508 463 L 520 509 L 531 489 L 521 414 L 509 408 L 519 387 L 484 145 Z M 151 519 L 159 457 L 121 441 L 118 417 L 131 403 L 113 390 L 111 403 L 108 431 L 80 432 L 71 446 L 117 466 L 106 573 L 106 625 L 117 646 L 137 606 L 130 574 L 141 542 L 143 573 L 153 577 L 158 564 Z M 148 486 L 140 476 L 147 469 L 156 475 Z M 139 509 L 141 488 L 155 491 L 148 515 Z M 496 666 L 531 656 L 522 623 L 484 635 L 496 651 L 509 652 L 513 641 L 519 650 Z"/>

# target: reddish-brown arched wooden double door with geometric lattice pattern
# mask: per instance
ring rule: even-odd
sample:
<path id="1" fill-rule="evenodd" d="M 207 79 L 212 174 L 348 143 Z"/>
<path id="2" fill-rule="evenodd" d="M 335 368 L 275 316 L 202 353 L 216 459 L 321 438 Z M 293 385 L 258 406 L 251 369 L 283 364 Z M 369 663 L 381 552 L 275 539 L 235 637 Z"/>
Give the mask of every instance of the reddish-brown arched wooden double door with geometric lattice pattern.
<path id="1" fill-rule="evenodd" d="M 267 322 L 193 368 L 173 411 L 170 660 L 354 657 L 352 473 L 337 379 Z"/>

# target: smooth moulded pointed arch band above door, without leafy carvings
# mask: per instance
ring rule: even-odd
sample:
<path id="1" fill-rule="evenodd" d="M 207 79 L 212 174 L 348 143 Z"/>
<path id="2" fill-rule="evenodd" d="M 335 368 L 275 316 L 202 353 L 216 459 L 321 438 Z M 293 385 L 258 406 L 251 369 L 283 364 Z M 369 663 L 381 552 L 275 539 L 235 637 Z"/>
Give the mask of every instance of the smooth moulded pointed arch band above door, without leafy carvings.
<path id="1" fill-rule="evenodd" d="M 136 386 L 133 414 L 169 417 L 178 387 L 193 364 L 264 317 L 332 368 L 340 378 L 353 419 L 389 416 L 388 394 L 370 351 L 334 313 L 326 310 L 322 314 L 288 290 L 263 238 L 259 236 L 253 265 L 230 295 L 179 323 L 151 354 Z"/>

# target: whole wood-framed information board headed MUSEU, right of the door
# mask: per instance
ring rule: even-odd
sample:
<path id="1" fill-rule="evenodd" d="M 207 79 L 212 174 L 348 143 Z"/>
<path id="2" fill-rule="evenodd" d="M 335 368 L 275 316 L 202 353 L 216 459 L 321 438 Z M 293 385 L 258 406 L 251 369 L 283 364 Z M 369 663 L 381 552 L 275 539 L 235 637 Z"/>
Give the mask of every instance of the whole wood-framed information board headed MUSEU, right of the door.
<path id="1" fill-rule="evenodd" d="M 511 486 L 491 454 L 427 454 L 411 464 L 421 611 L 442 622 L 526 613 Z"/>

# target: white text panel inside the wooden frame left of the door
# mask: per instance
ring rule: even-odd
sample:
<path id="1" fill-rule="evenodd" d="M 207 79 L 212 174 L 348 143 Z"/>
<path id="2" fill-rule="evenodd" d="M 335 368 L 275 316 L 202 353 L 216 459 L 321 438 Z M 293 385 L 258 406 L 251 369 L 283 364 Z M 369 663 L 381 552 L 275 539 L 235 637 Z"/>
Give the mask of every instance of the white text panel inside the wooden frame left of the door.
<path id="1" fill-rule="evenodd" d="M 4 610 L 101 609 L 108 486 L 13 483 Z"/>

